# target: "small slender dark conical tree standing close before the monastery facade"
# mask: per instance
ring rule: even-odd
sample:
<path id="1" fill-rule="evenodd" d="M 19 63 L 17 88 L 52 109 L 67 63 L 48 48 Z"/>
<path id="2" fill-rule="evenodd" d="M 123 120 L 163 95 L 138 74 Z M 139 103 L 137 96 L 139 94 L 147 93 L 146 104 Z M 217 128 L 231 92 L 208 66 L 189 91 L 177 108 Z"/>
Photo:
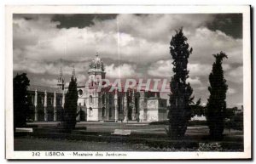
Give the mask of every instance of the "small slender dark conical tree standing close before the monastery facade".
<path id="1" fill-rule="evenodd" d="M 71 131 L 76 126 L 76 117 L 78 109 L 78 90 L 77 90 L 77 79 L 72 76 L 69 82 L 67 94 L 65 97 L 64 105 L 64 127 Z"/>

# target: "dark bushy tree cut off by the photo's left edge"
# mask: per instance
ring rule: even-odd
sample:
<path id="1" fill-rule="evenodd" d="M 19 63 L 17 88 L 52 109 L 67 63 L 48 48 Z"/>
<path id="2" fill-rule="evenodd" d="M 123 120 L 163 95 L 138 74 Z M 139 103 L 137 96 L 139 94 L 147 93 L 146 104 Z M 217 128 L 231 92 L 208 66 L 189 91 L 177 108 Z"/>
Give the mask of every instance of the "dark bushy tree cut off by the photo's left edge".
<path id="1" fill-rule="evenodd" d="M 29 82 L 26 73 L 17 74 L 14 78 L 14 127 L 24 127 L 26 125 L 30 103 L 27 92 Z"/>

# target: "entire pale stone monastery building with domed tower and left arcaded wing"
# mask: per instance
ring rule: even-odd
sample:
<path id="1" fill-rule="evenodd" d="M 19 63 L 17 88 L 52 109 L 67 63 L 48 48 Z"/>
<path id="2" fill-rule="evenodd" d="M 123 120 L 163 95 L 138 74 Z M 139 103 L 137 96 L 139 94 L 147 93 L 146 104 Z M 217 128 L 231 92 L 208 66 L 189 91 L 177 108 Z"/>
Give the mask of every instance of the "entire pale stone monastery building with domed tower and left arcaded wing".
<path id="1" fill-rule="evenodd" d="M 73 68 L 73 76 L 75 76 Z M 84 86 L 78 86 L 78 120 L 81 122 L 102 121 L 139 121 L 156 122 L 167 119 L 166 99 L 160 98 L 159 92 L 137 92 L 133 88 L 121 92 L 113 89 L 108 92 L 111 86 L 102 88 L 98 92 L 99 82 L 105 79 L 106 72 L 102 59 L 96 55 L 91 61 L 88 71 L 89 82 Z M 79 77 L 77 77 L 79 78 Z M 57 88 L 42 86 L 30 86 L 28 88 L 32 96 L 32 110 L 34 121 L 60 121 L 61 112 L 65 104 L 64 78 L 62 71 L 58 77 Z"/>

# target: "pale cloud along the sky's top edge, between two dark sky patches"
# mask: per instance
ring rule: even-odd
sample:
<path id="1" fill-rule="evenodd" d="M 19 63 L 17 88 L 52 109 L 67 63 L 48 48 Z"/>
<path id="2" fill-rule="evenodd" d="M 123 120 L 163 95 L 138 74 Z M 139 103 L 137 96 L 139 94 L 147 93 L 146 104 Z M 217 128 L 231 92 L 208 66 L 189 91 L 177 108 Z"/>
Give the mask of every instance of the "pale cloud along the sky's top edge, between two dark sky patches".
<path id="1" fill-rule="evenodd" d="M 211 14 L 119 14 L 116 20 L 95 20 L 96 31 L 117 31 L 129 33 L 153 42 L 170 42 L 171 31 L 182 26 L 206 25 L 213 19 Z M 193 20 L 193 21 L 192 21 Z"/>

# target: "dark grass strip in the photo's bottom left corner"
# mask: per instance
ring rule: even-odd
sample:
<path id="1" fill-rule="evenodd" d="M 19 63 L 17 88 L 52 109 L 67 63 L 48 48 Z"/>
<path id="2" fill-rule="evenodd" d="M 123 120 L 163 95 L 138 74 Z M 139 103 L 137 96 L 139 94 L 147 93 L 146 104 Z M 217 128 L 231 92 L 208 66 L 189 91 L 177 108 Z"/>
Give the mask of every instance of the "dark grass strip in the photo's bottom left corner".
<path id="1" fill-rule="evenodd" d="M 138 151 L 136 144 L 88 142 L 63 139 L 15 139 L 15 150 Z"/>

